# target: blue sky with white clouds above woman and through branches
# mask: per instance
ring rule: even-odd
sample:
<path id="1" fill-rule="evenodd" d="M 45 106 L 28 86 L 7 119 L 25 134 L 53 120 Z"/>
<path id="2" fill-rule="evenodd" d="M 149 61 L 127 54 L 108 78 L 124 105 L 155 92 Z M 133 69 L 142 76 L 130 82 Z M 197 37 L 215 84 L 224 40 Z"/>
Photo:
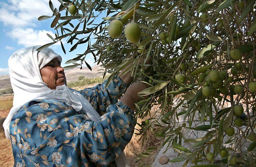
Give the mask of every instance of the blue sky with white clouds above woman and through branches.
<path id="1" fill-rule="evenodd" d="M 60 2 L 58 0 L 51 1 L 54 8 L 59 9 Z M 47 36 L 47 33 L 55 37 L 54 34 L 57 33 L 57 31 L 50 27 L 54 17 L 43 21 L 37 20 L 37 18 L 42 15 L 52 16 L 53 13 L 49 7 L 49 0 L 0 0 L 0 13 L 0 75 L 9 75 L 8 59 L 16 50 L 53 42 L 52 39 Z M 65 13 L 62 13 L 62 16 L 63 15 L 65 15 Z M 97 13 L 95 13 L 95 15 L 97 15 Z M 103 21 L 102 17 L 105 16 L 105 13 L 100 14 L 95 19 L 94 23 L 100 23 Z M 59 20 L 59 23 L 63 21 L 65 20 Z M 71 23 L 76 26 L 78 20 L 72 20 Z M 78 31 L 82 30 L 82 26 L 83 23 L 78 28 Z M 91 27 L 91 25 L 87 27 Z M 64 28 L 73 30 L 69 25 L 64 26 Z M 58 29 L 58 32 L 61 34 L 60 29 Z M 81 36 L 77 37 L 79 39 L 82 38 Z M 93 37 L 94 36 L 91 36 L 91 44 L 96 41 L 92 39 Z M 75 58 L 77 56 L 76 54 L 84 53 L 88 44 L 80 44 L 76 50 L 69 52 L 70 48 L 77 40 L 73 41 L 73 45 L 66 43 L 67 40 L 68 37 L 62 39 L 66 54 L 64 54 L 62 50 L 60 42 L 49 47 L 62 56 L 63 67 L 72 65 L 65 64 L 65 62 Z M 95 60 L 91 54 L 86 55 L 85 61 L 91 66 L 97 64 L 94 63 Z M 77 63 L 80 63 L 80 61 Z"/>

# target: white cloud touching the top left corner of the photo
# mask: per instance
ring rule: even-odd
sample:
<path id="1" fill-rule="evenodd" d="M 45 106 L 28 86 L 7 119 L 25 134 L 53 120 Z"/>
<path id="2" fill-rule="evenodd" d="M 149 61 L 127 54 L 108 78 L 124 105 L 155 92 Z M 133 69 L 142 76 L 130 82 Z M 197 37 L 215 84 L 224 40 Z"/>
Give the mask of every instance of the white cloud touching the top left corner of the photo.
<path id="1" fill-rule="evenodd" d="M 7 2 L 2 2 L 0 7 L 0 21 L 5 26 L 36 26 L 39 16 L 52 16 L 49 0 L 8 0 Z M 58 0 L 52 2 L 54 7 L 60 4 Z"/>

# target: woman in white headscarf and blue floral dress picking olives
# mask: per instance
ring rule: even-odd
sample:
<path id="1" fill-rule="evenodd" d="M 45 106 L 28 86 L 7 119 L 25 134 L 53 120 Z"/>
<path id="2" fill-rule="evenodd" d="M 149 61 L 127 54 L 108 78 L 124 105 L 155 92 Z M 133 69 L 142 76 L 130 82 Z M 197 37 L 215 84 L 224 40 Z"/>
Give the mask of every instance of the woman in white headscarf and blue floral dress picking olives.
<path id="1" fill-rule="evenodd" d="M 128 166 L 123 150 L 136 124 L 134 103 L 147 86 L 129 86 L 128 72 L 106 89 L 107 80 L 73 90 L 61 56 L 39 47 L 17 50 L 8 61 L 14 100 L 3 126 L 15 166 Z"/>

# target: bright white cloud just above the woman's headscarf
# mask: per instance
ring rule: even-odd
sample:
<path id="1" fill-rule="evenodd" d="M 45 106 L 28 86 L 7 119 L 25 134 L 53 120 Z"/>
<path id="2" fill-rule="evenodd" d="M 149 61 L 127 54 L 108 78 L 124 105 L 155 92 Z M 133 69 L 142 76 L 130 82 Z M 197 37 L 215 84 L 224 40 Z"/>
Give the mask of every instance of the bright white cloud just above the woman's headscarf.
<path id="1" fill-rule="evenodd" d="M 34 30 L 32 28 L 14 28 L 7 34 L 13 39 L 17 40 L 18 44 L 24 45 L 25 47 L 30 47 L 33 45 L 44 45 L 53 42 L 46 33 L 55 38 L 55 35 L 51 31 Z M 60 45 L 60 43 L 58 42 L 57 45 Z"/>

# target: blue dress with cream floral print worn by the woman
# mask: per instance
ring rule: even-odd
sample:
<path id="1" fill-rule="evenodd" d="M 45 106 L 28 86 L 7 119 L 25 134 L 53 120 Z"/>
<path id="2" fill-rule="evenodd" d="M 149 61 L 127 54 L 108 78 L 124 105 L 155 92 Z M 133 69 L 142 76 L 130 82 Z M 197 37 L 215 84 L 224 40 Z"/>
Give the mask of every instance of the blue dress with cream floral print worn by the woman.
<path id="1" fill-rule="evenodd" d="M 115 166 L 134 133 L 133 111 L 118 99 L 127 90 L 119 75 L 78 91 L 101 115 L 92 121 L 69 104 L 41 99 L 26 103 L 10 123 L 15 165 Z"/>

